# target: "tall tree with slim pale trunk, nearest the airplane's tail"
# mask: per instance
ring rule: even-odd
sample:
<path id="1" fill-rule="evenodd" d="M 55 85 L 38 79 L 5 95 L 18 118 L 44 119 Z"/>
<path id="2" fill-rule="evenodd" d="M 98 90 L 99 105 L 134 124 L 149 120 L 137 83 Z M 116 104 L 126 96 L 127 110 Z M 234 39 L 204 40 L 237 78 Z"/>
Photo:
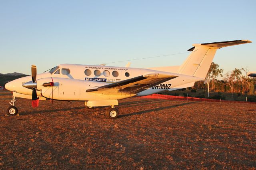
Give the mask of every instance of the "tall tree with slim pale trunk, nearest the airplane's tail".
<path id="1" fill-rule="evenodd" d="M 214 80 L 218 76 L 223 76 L 221 73 L 223 72 L 223 69 L 219 68 L 220 66 L 214 62 L 210 65 L 210 68 L 208 70 L 208 73 L 206 75 L 206 80 L 207 80 L 207 89 L 208 89 L 208 97 L 209 97 L 209 85 L 210 85 L 210 80 L 212 80 L 212 89 L 214 89 Z"/>

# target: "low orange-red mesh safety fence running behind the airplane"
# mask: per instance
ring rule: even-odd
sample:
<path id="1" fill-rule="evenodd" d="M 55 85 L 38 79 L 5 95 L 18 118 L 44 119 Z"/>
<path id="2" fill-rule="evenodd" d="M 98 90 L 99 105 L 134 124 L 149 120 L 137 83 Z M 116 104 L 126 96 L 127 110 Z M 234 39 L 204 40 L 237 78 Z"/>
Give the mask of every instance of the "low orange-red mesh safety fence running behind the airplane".
<path id="1" fill-rule="evenodd" d="M 232 101 L 232 100 L 221 100 L 221 99 L 203 99 L 197 97 L 183 97 L 183 96 L 171 96 L 171 95 L 160 95 L 160 94 L 152 94 L 148 96 L 142 96 L 141 98 L 149 98 L 149 99 L 168 99 L 168 100 L 187 100 L 187 101 L 208 101 L 208 102 L 224 102 L 224 103 L 253 103 L 250 101 Z"/>

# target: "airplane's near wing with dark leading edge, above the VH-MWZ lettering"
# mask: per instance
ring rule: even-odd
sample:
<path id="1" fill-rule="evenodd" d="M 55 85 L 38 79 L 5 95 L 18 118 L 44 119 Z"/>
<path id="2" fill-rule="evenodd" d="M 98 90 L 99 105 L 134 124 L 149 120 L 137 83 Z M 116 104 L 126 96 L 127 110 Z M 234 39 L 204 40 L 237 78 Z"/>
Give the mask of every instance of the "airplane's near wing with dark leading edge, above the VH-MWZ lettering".
<path id="1" fill-rule="evenodd" d="M 146 75 L 104 85 L 95 89 L 87 89 L 86 92 L 100 93 L 105 95 L 137 94 L 149 89 L 150 87 L 153 87 L 154 85 L 158 85 L 176 77 L 178 76 L 148 73 Z"/>

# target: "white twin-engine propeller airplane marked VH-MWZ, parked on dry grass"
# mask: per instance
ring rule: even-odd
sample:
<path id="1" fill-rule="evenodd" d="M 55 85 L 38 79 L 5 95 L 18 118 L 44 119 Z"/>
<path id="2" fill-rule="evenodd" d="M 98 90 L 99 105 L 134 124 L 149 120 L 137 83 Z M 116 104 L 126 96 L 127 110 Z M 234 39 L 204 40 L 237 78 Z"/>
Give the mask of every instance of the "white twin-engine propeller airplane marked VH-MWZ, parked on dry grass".
<path id="1" fill-rule="evenodd" d="M 31 77 L 11 81 L 5 88 L 13 92 L 8 115 L 16 115 L 16 97 L 32 99 L 32 107 L 38 100 L 84 101 L 88 108 L 110 106 L 106 117 L 118 117 L 118 100 L 146 96 L 162 91 L 192 87 L 204 80 L 217 49 L 251 43 L 249 40 L 193 44 L 184 63 L 173 67 L 148 69 L 110 67 L 104 65 L 61 64 L 47 73 L 36 74 L 32 65 Z"/>

